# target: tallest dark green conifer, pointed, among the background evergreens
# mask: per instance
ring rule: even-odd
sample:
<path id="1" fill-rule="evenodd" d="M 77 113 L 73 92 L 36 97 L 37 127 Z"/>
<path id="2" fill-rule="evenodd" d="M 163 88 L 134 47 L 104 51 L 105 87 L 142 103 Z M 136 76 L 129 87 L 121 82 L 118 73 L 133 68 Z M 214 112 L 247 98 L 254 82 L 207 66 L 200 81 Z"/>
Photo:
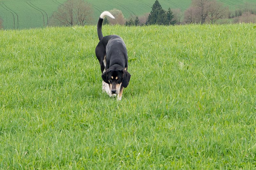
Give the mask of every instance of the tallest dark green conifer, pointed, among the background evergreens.
<path id="1" fill-rule="evenodd" d="M 148 16 L 147 25 L 159 24 L 165 25 L 167 23 L 166 11 L 162 8 L 158 0 L 153 4 L 152 10 Z"/>

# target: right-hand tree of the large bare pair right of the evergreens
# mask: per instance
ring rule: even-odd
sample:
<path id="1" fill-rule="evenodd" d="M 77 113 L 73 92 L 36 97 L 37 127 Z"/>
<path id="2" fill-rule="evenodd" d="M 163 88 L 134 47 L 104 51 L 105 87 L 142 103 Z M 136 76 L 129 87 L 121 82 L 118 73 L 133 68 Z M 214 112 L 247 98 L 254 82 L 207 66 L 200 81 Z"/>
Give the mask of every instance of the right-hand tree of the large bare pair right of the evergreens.
<path id="1" fill-rule="evenodd" d="M 213 24 L 217 19 L 224 18 L 228 15 L 228 8 L 224 7 L 224 5 L 216 0 L 213 0 L 209 4 L 209 15 L 207 18 Z"/>

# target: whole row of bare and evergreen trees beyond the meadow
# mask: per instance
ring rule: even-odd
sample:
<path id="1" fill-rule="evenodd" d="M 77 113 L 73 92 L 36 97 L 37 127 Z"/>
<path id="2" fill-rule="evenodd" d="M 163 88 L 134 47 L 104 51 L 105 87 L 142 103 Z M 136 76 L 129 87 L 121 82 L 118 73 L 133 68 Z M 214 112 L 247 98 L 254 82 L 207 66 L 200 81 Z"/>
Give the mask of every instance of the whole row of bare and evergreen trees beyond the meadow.
<path id="1" fill-rule="evenodd" d="M 256 23 L 256 4 L 245 3 L 235 11 L 230 11 L 227 6 L 216 0 L 192 0 L 190 7 L 181 12 L 180 9 L 168 8 L 165 11 L 158 0 L 152 6 L 150 12 L 141 16 L 132 16 L 125 19 L 122 11 L 110 10 L 115 19 L 105 18 L 103 24 L 119 25 L 175 25 L 192 23 Z M 182 21 L 183 19 L 183 21 Z M 226 20 L 225 20 L 226 19 Z M 57 11 L 53 12 L 49 26 L 73 26 L 87 25 L 93 22 L 92 5 L 84 0 L 68 0 L 61 4 Z M 0 29 L 3 28 L 3 20 L 0 18 Z"/>

